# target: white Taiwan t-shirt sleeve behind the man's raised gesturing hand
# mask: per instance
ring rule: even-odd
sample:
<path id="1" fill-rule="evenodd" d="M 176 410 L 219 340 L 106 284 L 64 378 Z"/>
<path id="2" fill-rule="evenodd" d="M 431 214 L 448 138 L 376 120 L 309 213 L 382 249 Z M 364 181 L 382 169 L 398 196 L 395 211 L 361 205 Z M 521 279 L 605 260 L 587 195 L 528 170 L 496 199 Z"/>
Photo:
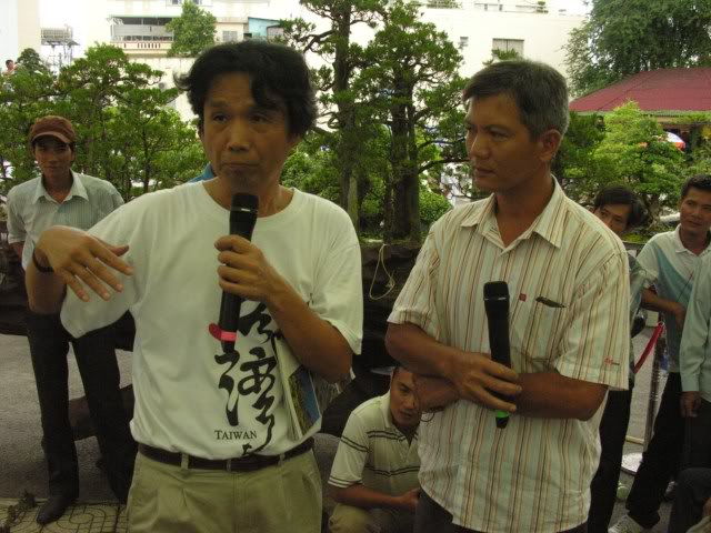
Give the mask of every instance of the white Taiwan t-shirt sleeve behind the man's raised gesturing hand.
<path id="1" fill-rule="evenodd" d="M 113 211 L 88 230 L 90 234 L 109 244 L 129 244 L 129 251 L 121 259 L 127 261 L 134 272 L 132 275 L 123 275 L 113 271 L 113 274 L 123 284 L 123 290 L 116 292 L 109 289 L 111 298 L 108 301 L 90 291 L 89 301 L 83 302 L 71 290 L 67 291 L 61 310 L 61 321 L 74 338 L 116 322 L 139 299 L 140 279 L 147 268 L 144 264 L 147 254 L 142 252 L 146 247 L 142 244 L 141 233 L 138 231 L 142 225 L 140 210 L 137 209 L 140 208 L 140 203 L 138 201 L 131 202 L 131 204 Z"/>

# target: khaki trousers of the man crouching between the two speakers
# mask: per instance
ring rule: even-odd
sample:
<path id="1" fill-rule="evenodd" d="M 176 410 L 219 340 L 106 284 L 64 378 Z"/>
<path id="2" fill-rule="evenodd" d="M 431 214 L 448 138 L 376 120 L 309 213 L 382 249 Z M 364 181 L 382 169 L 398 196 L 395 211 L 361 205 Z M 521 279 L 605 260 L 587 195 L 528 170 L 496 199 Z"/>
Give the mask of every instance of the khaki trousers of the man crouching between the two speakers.
<path id="1" fill-rule="evenodd" d="M 411 533 L 414 515 L 391 509 L 369 511 L 337 504 L 329 520 L 331 533 Z"/>

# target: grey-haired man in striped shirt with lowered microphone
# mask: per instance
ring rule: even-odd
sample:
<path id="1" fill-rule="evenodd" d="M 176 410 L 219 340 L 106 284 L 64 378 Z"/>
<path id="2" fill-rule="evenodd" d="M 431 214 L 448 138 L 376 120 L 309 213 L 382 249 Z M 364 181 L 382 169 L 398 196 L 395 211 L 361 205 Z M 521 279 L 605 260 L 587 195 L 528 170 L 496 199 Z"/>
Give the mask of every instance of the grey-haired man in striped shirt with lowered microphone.
<path id="1" fill-rule="evenodd" d="M 628 386 L 627 254 L 551 175 L 568 125 L 560 73 L 494 63 L 463 97 L 474 184 L 492 194 L 432 227 L 389 318 L 423 409 L 444 408 L 420 424 L 414 531 L 582 532 L 600 408 Z M 511 294 L 512 369 L 489 355 L 491 281 Z M 507 429 L 493 410 L 511 413 Z"/>

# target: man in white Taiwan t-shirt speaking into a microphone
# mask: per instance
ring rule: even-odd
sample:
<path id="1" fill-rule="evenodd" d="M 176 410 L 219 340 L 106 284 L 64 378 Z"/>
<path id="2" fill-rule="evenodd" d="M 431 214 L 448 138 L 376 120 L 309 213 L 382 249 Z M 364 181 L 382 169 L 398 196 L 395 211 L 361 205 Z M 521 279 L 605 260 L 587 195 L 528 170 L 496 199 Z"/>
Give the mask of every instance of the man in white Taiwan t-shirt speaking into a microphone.
<path id="1" fill-rule="evenodd" d="M 43 233 L 30 305 L 61 306 L 74 335 L 126 310 L 136 319 L 133 533 L 312 533 L 320 422 L 290 431 L 277 346 L 340 379 L 360 350 L 362 293 L 348 215 L 280 184 L 316 117 L 309 70 L 292 49 L 250 40 L 209 49 L 178 81 L 217 177 L 146 194 L 89 232 Z M 226 234 L 240 192 L 259 199 L 251 241 Z M 232 350 L 209 331 L 223 291 L 244 299 Z"/>

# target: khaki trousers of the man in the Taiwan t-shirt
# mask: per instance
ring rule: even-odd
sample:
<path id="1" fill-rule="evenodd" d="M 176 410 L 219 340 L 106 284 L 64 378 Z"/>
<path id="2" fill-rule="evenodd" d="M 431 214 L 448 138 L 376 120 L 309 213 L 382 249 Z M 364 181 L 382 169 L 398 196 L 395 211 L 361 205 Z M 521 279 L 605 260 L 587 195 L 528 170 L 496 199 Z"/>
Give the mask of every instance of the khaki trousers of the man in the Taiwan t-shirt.
<path id="1" fill-rule="evenodd" d="M 319 533 L 321 477 L 312 451 L 243 473 L 139 453 L 127 513 L 131 533 Z"/>

